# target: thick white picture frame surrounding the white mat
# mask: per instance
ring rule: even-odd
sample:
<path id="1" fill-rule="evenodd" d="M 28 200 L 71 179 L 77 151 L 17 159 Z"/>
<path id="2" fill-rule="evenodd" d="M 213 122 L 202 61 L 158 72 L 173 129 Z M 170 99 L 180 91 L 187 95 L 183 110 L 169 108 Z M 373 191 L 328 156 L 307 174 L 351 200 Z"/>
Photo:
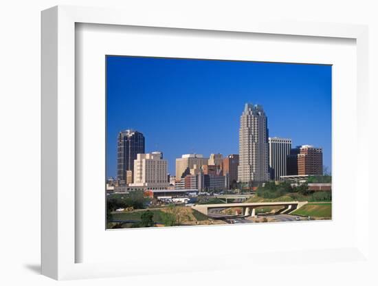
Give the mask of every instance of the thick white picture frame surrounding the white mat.
<path id="1" fill-rule="evenodd" d="M 159 274 L 164 272 L 187 272 L 203 270 L 227 270 L 240 267 L 238 263 L 222 265 L 197 261 L 195 256 L 182 255 L 185 263 L 162 263 L 153 269 L 138 268 L 142 259 L 131 257 L 124 262 L 78 263 L 76 252 L 83 245 L 77 239 L 76 214 L 78 210 L 75 192 L 76 156 L 78 151 L 76 118 L 76 23 L 174 28 L 234 33 L 281 34 L 302 37 L 344 38 L 356 41 L 357 47 L 357 135 L 356 146 L 362 146 L 367 136 L 364 124 L 368 116 L 368 28 L 364 25 L 335 23 L 271 22 L 241 19 L 227 21 L 214 19 L 211 23 L 203 18 L 191 19 L 185 15 L 140 14 L 127 10 L 104 8 L 81 8 L 57 6 L 42 12 L 42 273 L 55 279 L 95 278 L 127 276 L 133 274 Z M 311 256 L 321 263 L 370 263 L 369 222 L 360 219 L 368 211 L 368 193 L 371 191 L 366 180 L 368 155 L 365 148 L 357 148 L 355 178 L 359 180 L 356 197 L 354 243 L 343 248 L 313 250 L 287 250 L 284 252 L 254 252 L 259 261 L 289 261 L 287 256 Z M 364 179 L 362 179 L 364 178 Z M 353 186 L 356 188 L 356 186 Z M 278 226 L 274 226 L 278 228 Z M 134 231 L 134 230 L 133 230 Z M 147 230 L 138 230 L 146 232 Z M 214 228 L 215 231 L 215 228 Z M 218 230 L 216 230 L 218 231 Z M 113 236 L 118 235 L 114 232 Z M 179 255 L 180 256 L 180 255 Z M 226 254 L 227 259 L 240 259 L 238 254 Z M 326 257 L 324 261 L 324 257 Z M 242 261 L 249 261 L 248 255 Z M 306 259 L 302 263 L 307 263 Z M 211 265 L 208 265 L 211 264 Z M 165 265 L 165 267 L 164 267 Z M 191 265 L 190 267 L 188 267 Z M 335 270 L 337 271 L 337 270 Z M 341 270 L 340 270 L 341 271 Z M 340 272 L 341 273 L 341 272 Z"/>

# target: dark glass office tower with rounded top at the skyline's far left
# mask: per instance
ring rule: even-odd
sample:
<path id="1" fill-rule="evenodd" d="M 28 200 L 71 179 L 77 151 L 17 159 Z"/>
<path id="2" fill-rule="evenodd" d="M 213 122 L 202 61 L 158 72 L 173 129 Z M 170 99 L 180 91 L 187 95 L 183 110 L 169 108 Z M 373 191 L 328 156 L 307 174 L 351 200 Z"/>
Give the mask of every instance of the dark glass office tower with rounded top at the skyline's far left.
<path id="1" fill-rule="evenodd" d="M 117 178 L 126 181 L 126 171 L 134 170 L 137 154 L 144 153 L 144 135 L 135 130 L 118 133 L 117 140 Z"/>

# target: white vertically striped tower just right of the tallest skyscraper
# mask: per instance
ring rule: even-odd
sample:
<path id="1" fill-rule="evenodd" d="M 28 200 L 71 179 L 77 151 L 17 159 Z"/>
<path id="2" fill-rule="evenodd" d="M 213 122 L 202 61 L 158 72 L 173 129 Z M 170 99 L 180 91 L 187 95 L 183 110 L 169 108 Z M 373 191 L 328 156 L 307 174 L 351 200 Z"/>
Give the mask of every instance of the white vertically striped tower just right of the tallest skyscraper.
<path id="1" fill-rule="evenodd" d="M 270 179 L 279 181 L 287 175 L 287 157 L 290 155 L 291 139 L 269 137 Z"/>

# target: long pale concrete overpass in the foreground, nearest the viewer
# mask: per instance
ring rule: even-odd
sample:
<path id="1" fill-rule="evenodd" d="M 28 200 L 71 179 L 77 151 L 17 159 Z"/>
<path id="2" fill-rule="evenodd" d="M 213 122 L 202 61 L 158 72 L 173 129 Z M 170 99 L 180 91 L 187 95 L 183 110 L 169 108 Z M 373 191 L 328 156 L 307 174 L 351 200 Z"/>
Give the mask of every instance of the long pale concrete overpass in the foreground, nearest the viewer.
<path id="1" fill-rule="evenodd" d="M 256 208 L 263 208 L 265 206 L 284 206 L 280 213 L 288 214 L 301 208 L 307 201 L 274 201 L 274 202 L 260 202 L 260 203 L 214 203 L 208 205 L 194 205 L 192 208 L 199 212 L 208 215 L 212 208 L 242 208 L 245 216 L 256 217 Z"/>

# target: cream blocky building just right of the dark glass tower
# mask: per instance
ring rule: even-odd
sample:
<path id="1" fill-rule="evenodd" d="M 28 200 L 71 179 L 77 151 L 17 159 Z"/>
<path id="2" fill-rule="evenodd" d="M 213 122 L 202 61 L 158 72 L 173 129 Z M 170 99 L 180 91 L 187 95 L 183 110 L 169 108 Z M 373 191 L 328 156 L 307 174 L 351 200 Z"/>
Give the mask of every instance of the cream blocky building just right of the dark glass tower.
<path id="1" fill-rule="evenodd" d="M 148 190 L 167 188 L 168 162 L 162 156 L 161 152 L 137 154 L 137 159 L 134 160 L 134 182 L 129 186 Z"/>

